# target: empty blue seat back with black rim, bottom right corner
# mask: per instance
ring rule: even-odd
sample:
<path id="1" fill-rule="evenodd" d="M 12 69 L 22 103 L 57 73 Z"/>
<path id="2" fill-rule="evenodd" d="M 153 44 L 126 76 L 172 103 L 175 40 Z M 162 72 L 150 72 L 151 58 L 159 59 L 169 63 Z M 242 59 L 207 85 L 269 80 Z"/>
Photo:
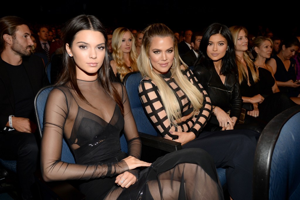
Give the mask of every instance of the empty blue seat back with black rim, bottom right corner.
<path id="1" fill-rule="evenodd" d="M 300 105 L 264 128 L 254 158 L 253 199 L 300 199 Z"/>

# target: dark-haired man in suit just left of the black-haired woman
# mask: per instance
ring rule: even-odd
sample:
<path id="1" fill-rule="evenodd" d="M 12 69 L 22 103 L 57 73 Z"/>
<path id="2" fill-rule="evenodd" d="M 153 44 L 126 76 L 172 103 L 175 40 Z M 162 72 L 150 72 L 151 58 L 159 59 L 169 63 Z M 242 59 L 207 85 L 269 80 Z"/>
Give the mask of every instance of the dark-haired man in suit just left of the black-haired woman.
<path id="1" fill-rule="evenodd" d="M 190 44 L 192 46 L 192 49 L 187 51 L 185 54 L 182 55 L 181 59 L 182 61 L 187 64 L 189 67 L 193 67 L 195 64 L 195 61 L 199 54 L 199 45 L 202 40 L 203 34 L 201 32 L 195 32 L 193 33 L 191 37 Z"/>

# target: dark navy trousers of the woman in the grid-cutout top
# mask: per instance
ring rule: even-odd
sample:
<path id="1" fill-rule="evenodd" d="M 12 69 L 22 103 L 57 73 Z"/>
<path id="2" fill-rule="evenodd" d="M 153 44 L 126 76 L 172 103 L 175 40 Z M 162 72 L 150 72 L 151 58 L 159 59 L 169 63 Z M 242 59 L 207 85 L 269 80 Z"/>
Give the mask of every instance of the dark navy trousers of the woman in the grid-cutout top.
<path id="1" fill-rule="evenodd" d="M 252 130 L 202 131 L 182 148 L 207 151 L 216 168 L 226 169 L 230 196 L 234 200 L 252 200 L 253 161 L 259 135 Z"/>

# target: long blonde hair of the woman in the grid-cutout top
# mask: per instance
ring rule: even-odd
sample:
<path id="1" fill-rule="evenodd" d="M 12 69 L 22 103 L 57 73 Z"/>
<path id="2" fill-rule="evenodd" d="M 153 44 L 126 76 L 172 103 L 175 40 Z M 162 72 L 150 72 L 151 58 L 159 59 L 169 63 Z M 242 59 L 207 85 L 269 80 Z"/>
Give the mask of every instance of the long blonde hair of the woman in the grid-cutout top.
<path id="1" fill-rule="evenodd" d="M 170 69 L 173 79 L 176 81 L 179 88 L 186 94 L 187 98 L 191 101 L 191 105 L 194 108 L 195 113 L 198 112 L 202 108 L 203 103 L 203 95 L 202 93 L 182 74 L 180 69 L 180 64 L 184 62 L 179 57 L 178 48 L 177 48 L 177 40 L 174 36 L 173 31 L 168 28 L 165 24 L 155 23 L 149 25 L 146 29 L 144 29 L 144 37 L 141 47 L 141 53 L 138 57 L 138 69 L 141 72 L 142 76 L 147 76 L 158 87 L 158 91 L 161 95 L 161 100 L 164 105 L 164 109 L 167 113 L 167 117 L 169 119 L 170 124 L 175 125 L 173 122 L 177 121 L 181 118 L 180 105 L 177 101 L 176 92 L 174 92 L 165 82 L 164 78 L 150 68 L 149 63 L 149 51 L 150 45 L 154 38 L 160 37 L 170 37 L 174 42 L 174 61 L 173 66 L 176 63 L 176 66 Z M 175 62 L 175 59 L 177 62 Z M 186 64 L 184 64 L 185 69 L 187 69 Z"/>

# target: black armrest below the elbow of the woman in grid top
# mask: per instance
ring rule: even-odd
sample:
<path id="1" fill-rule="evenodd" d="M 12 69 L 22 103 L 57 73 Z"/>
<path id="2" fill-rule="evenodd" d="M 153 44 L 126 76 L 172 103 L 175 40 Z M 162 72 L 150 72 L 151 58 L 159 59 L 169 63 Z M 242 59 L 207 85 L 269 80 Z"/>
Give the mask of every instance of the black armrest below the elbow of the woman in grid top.
<path id="1" fill-rule="evenodd" d="M 173 140 L 168 140 L 163 137 L 149 135 L 139 132 L 142 140 L 142 144 L 145 146 L 151 146 L 156 149 L 160 149 L 167 152 L 178 151 L 182 149 L 181 143 Z"/>

